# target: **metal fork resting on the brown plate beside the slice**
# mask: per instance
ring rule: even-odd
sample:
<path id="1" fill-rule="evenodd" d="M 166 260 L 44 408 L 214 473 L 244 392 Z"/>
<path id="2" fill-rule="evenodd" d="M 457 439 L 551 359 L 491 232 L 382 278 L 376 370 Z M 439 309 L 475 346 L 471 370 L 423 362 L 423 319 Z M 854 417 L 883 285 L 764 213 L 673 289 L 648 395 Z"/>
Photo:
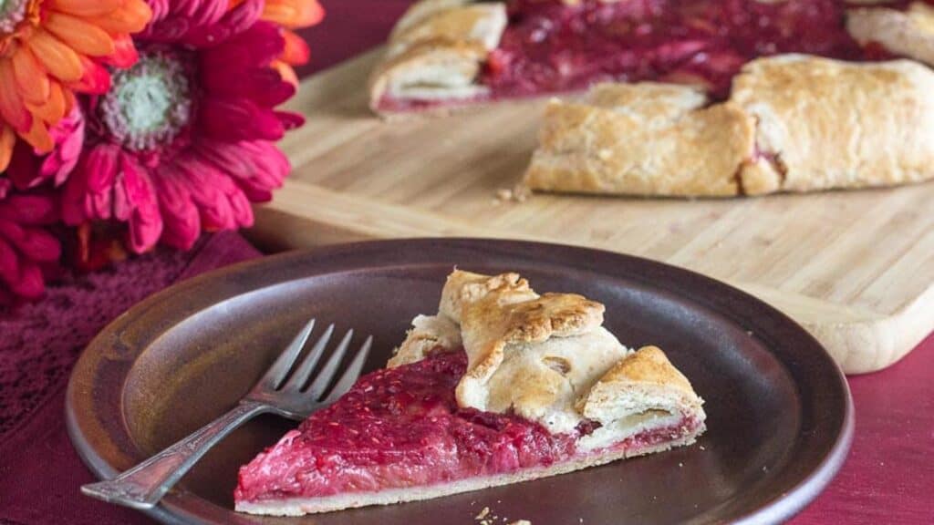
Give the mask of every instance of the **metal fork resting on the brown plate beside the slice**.
<path id="1" fill-rule="evenodd" d="M 165 492 L 171 489 L 178 479 L 205 455 L 208 448 L 213 447 L 225 435 L 233 432 L 248 419 L 268 412 L 290 419 L 304 419 L 312 412 L 337 401 L 337 398 L 344 395 L 360 376 L 363 362 L 366 362 L 366 356 L 373 344 L 373 337 L 366 338 L 347 366 L 347 370 L 325 398 L 324 392 L 328 390 L 328 385 L 336 376 L 337 367 L 350 346 L 353 330 L 347 331 L 340 345 L 331 354 L 331 358 L 324 364 L 311 384 L 306 387 L 305 383 L 308 382 L 309 376 L 331 339 L 334 325 L 329 326 L 318 337 L 318 341 L 304 360 L 297 366 L 293 366 L 314 328 L 315 319 L 311 319 L 262 376 L 260 382 L 249 390 L 249 393 L 230 412 L 123 474 L 107 481 L 82 486 L 81 492 L 114 504 L 140 509 L 151 508 L 158 504 Z"/>

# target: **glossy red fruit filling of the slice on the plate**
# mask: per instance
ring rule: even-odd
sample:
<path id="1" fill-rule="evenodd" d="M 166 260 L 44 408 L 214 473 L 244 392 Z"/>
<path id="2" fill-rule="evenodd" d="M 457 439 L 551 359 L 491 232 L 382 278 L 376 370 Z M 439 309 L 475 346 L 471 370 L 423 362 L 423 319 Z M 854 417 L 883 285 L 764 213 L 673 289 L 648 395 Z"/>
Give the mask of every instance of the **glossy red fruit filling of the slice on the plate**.
<path id="1" fill-rule="evenodd" d="M 262 503 L 511 474 L 607 451 L 635 454 L 701 425 L 666 419 L 661 428 L 584 450 L 578 440 L 597 435 L 599 423 L 551 434 L 514 414 L 460 408 L 455 388 L 466 367 L 459 350 L 362 376 L 337 403 L 241 468 L 234 499 Z"/>

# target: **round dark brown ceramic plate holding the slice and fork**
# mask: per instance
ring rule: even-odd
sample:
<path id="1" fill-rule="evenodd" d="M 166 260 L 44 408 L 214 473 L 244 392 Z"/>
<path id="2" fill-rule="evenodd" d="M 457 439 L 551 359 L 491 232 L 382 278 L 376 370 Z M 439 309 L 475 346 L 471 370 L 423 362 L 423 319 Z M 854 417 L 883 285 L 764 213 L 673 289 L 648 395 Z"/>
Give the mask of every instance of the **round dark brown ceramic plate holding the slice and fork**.
<path id="1" fill-rule="evenodd" d="M 163 291 L 113 322 L 68 388 L 72 441 L 111 476 L 230 408 L 306 319 L 372 333 L 382 366 L 455 264 L 514 270 L 538 291 L 606 304 L 628 346 L 664 348 L 707 401 L 693 447 L 428 502 L 306 518 L 233 512 L 237 468 L 291 426 L 256 419 L 213 449 L 151 514 L 169 523 L 475 523 L 485 506 L 534 525 L 778 522 L 827 486 L 853 433 L 846 382 L 824 348 L 770 306 L 672 266 L 585 248 L 402 240 L 247 262 Z M 77 488 L 76 488 L 77 490 Z"/>

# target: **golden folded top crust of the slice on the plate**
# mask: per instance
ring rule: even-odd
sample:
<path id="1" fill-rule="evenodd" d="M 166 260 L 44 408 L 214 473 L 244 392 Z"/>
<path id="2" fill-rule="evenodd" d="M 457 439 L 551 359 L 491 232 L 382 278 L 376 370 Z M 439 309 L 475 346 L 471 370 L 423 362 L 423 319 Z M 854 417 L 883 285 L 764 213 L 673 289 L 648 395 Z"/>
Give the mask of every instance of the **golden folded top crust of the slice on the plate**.
<path id="1" fill-rule="evenodd" d="M 685 376 L 658 348 L 621 345 L 601 326 L 603 311 L 581 295 L 539 295 L 517 274 L 455 270 L 438 316 L 413 321 L 389 367 L 422 359 L 431 351 L 426 341 L 437 344 L 432 349 L 462 345 L 468 364 L 456 390 L 460 406 L 514 411 L 551 433 L 599 421 L 601 428 L 581 440 L 585 449 L 657 421 L 702 421 L 701 398 Z M 460 326 L 460 341 L 446 335 L 451 325 Z M 432 333 L 436 327 L 441 331 Z"/>

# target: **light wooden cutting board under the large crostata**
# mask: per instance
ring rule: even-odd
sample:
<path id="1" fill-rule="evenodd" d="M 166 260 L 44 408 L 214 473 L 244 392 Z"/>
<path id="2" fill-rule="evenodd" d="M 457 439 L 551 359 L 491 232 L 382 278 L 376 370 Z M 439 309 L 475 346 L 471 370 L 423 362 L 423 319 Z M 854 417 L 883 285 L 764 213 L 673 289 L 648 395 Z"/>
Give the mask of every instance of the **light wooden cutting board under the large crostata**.
<path id="1" fill-rule="evenodd" d="M 380 50 L 304 80 L 294 166 L 252 235 L 266 248 L 365 238 L 489 236 L 630 253 L 729 282 L 797 319 L 848 373 L 896 362 L 934 330 L 934 184 L 729 200 L 535 195 L 522 176 L 544 100 L 380 121 Z M 469 265 L 465 261 L 465 265 Z"/>

